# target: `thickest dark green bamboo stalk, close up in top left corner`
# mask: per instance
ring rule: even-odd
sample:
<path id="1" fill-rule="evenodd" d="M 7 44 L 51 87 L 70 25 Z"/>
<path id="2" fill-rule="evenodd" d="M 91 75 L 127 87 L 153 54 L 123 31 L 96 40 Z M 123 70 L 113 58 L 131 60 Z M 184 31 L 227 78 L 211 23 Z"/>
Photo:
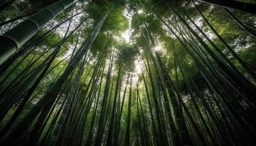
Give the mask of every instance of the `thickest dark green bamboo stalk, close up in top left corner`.
<path id="1" fill-rule="evenodd" d="M 0 65 L 37 34 L 42 26 L 76 1 L 78 0 L 60 0 L 50 4 L 0 36 Z"/>

